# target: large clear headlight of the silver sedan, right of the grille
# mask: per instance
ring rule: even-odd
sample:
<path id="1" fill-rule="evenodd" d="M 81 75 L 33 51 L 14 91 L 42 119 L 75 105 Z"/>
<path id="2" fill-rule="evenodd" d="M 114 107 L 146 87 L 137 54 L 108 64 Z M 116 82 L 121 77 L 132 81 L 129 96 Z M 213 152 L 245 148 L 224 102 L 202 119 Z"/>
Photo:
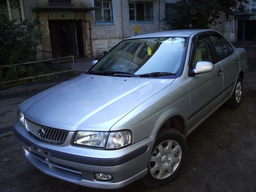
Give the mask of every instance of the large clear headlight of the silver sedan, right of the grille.
<path id="1" fill-rule="evenodd" d="M 128 130 L 118 132 L 86 132 L 75 133 L 73 144 L 87 147 L 117 149 L 130 145 L 132 133 Z"/>

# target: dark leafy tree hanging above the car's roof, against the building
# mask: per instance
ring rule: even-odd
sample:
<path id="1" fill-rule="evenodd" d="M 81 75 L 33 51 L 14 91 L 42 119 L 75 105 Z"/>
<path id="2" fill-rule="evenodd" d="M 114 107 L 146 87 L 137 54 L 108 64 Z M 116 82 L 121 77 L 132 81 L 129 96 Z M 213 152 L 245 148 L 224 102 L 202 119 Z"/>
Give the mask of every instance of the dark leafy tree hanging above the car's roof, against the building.
<path id="1" fill-rule="evenodd" d="M 169 24 L 172 29 L 203 28 L 218 24 L 221 12 L 230 20 L 238 5 L 247 0 L 180 0 L 172 4 Z"/>

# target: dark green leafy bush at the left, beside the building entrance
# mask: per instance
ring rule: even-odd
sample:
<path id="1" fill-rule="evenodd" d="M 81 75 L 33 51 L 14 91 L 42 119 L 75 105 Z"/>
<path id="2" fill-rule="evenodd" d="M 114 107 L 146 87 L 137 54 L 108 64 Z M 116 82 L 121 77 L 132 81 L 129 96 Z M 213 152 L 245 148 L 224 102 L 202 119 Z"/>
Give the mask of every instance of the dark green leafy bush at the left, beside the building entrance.
<path id="1" fill-rule="evenodd" d="M 9 20 L 5 8 L 0 7 L 0 65 L 34 61 L 36 48 L 41 42 L 43 30 L 40 20 Z"/>

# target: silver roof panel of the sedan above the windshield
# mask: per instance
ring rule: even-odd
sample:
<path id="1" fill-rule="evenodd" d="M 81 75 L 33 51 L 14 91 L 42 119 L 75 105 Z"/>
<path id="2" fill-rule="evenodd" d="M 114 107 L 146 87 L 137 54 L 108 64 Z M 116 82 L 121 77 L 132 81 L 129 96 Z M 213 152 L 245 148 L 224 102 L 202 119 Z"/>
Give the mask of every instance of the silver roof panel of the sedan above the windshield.
<path id="1" fill-rule="evenodd" d="M 135 38 L 160 38 L 160 37 L 190 37 L 190 35 L 197 34 L 199 32 L 215 32 L 215 30 L 211 29 L 178 29 L 178 30 L 170 30 L 163 32 L 154 32 L 143 35 L 136 35 L 126 39 L 135 39 Z"/>

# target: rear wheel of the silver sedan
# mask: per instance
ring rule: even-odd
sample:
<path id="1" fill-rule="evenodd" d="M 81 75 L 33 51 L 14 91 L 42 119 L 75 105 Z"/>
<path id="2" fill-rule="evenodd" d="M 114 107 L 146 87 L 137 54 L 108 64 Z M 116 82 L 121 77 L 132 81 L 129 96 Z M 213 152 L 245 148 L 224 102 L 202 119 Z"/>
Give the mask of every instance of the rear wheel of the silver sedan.
<path id="1" fill-rule="evenodd" d="M 241 101 L 242 101 L 242 78 L 238 77 L 232 96 L 227 101 L 226 104 L 230 108 L 239 108 Z"/>

